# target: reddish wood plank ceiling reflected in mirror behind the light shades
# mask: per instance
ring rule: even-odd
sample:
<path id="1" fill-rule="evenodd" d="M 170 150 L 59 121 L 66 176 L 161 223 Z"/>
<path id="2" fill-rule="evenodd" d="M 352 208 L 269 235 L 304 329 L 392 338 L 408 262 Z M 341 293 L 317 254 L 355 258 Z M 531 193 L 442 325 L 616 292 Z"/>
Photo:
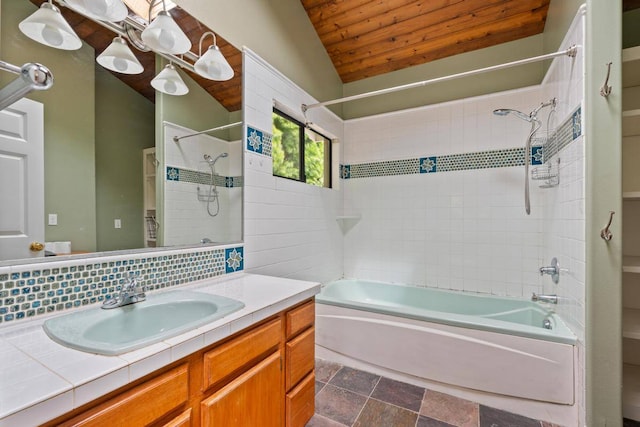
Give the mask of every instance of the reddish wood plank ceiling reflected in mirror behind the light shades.
<path id="1" fill-rule="evenodd" d="M 40 6 L 44 0 L 31 0 L 36 6 Z M 91 45 L 99 55 L 109 46 L 116 34 L 79 15 L 68 8 L 60 8 L 62 15 L 67 22 L 73 27 L 78 37 Z M 198 43 L 200 37 L 207 31 L 211 31 L 200 21 L 193 18 L 180 7 L 176 7 L 170 11 L 174 20 L 182 28 L 182 31 L 191 40 L 191 51 L 198 54 Z M 203 42 L 203 50 L 212 43 L 212 38 L 207 37 Z M 221 36 L 216 34 L 216 42 L 222 54 L 233 68 L 234 76 L 231 80 L 225 82 L 208 80 L 190 71 L 182 69 L 189 77 L 196 81 L 204 90 L 213 96 L 228 111 L 237 111 L 242 108 L 242 52 L 229 44 Z M 138 58 L 144 71 L 141 74 L 120 74 L 111 72 L 122 82 L 130 86 L 142 96 L 155 102 L 155 90 L 151 87 L 151 80 L 155 77 L 155 54 L 153 52 L 141 52 L 135 49 L 131 44 L 131 51 Z"/>

